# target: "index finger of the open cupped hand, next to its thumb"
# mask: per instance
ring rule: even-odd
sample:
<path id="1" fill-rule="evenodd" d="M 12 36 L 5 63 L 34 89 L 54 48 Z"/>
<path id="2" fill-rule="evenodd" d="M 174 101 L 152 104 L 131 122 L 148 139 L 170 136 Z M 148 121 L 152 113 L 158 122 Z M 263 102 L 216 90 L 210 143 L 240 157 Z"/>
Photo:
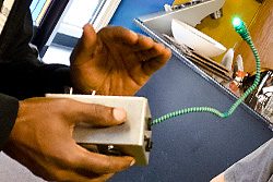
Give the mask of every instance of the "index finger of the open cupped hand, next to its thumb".
<path id="1" fill-rule="evenodd" d="M 136 44 L 139 39 L 136 33 L 122 26 L 108 25 L 100 29 L 98 35 L 104 39 L 104 41 L 115 41 L 129 45 Z"/>

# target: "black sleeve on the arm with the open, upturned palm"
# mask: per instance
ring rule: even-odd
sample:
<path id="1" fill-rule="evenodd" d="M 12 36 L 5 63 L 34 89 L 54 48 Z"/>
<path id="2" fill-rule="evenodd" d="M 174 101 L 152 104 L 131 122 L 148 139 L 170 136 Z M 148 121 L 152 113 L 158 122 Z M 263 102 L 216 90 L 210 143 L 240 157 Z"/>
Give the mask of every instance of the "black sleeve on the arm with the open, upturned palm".
<path id="1" fill-rule="evenodd" d="M 0 60 L 0 93 L 19 99 L 63 93 L 63 87 L 71 85 L 69 68 L 45 64 L 37 59 L 28 45 L 33 33 L 29 11 L 22 16 Z"/>

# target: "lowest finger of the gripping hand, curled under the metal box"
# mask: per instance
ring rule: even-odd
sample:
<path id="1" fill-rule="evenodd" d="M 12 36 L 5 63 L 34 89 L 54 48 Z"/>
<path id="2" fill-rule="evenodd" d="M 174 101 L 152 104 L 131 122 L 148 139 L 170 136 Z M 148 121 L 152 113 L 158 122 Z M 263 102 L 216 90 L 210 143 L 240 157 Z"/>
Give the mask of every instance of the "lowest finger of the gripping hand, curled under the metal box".
<path id="1" fill-rule="evenodd" d="M 79 169 L 90 170 L 97 174 L 109 174 L 120 172 L 134 165 L 135 160 L 129 156 L 106 156 L 91 153 L 79 146 L 78 161 L 81 163 Z"/>

